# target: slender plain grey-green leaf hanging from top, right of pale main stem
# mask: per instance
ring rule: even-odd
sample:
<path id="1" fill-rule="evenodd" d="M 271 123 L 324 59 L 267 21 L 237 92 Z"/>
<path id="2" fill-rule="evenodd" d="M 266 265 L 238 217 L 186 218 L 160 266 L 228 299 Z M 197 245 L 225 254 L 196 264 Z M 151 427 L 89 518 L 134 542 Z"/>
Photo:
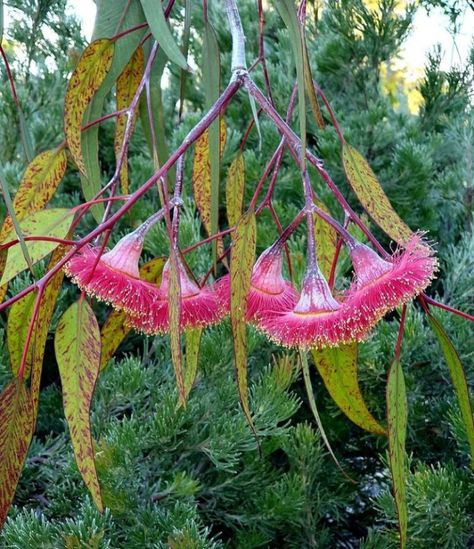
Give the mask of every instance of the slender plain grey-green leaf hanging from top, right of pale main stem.
<path id="1" fill-rule="evenodd" d="M 303 50 L 303 28 L 298 21 L 294 0 L 275 0 L 275 6 L 290 35 L 298 81 L 298 117 L 301 137 L 301 161 L 304 162 L 306 149 L 306 101 L 305 101 L 305 56 Z"/>

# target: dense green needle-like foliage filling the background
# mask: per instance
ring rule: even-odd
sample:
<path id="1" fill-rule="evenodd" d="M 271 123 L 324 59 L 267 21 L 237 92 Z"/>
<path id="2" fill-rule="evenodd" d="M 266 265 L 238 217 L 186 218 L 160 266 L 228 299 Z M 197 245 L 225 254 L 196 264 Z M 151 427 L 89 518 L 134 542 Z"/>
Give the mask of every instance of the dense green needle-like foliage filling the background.
<path id="1" fill-rule="evenodd" d="M 83 45 L 77 24 L 62 16 L 64 4 L 52 0 L 16 2 L 15 22 L 6 33 L 10 57 L 19 44 L 24 44 L 23 55 L 13 67 L 35 152 L 62 139 L 64 89 L 75 52 Z M 225 81 L 230 39 L 218 3 L 212 4 Z M 251 59 L 257 53 L 258 22 L 254 2 L 241 4 Z M 196 33 L 191 37 L 190 51 L 199 65 L 200 3 L 193 2 L 193 6 Z M 441 275 L 432 292 L 473 313 L 474 112 L 470 87 L 474 55 L 466 67 L 443 73 L 434 52 L 420 83 L 420 113 L 410 114 L 403 91 L 385 91 L 381 67 L 395 58 L 414 12 L 395 10 L 392 0 L 382 0 L 380 6 L 373 12 L 362 0 L 327 2 L 308 29 L 314 75 L 347 139 L 369 159 L 401 217 L 412 228 L 429 231 L 429 238 L 436 243 Z M 41 24 L 33 26 L 31 13 L 38 14 Z M 40 36 L 38 29 L 52 29 L 55 34 L 43 32 Z M 266 31 L 273 96 L 280 112 L 285 112 L 293 86 L 291 48 L 278 15 L 272 11 L 267 14 Z M 26 160 L 14 127 L 14 103 L 1 74 L 0 164 L 13 192 Z M 261 75 L 255 76 L 261 83 Z M 188 78 L 185 116 L 181 124 L 177 123 L 179 77 L 179 71 L 171 68 L 163 97 L 170 149 L 199 119 L 204 104 L 198 77 Z M 251 116 L 248 100 L 241 93 L 225 115 L 228 140 L 223 175 Z M 260 125 L 261 148 L 253 132 L 245 153 L 247 198 L 279 142 L 275 129 L 265 119 Z M 330 127 L 321 132 L 311 122 L 309 134 L 310 146 L 350 196 L 335 132 Z M 110 173 L 114 168 L 113 123 L 103 125 L 100 139 L 102 167 Z M 186 161 L 189 181 L 192 158 Z M 132 188 L 152 170 L 146 141 L 138 127 L 130 153 Z M 79 188 L 77 177 L 69 175 L 54 202 L 65 206 L 79 203 Z M 322 182 L 317 188 L 337 215 L 336 204 Z M 154 211 L 158 198 L 150 196 L 120 222 L 114 240 L 129 224 L 138 225 Z M 301 202 L 298 173 L 285 156 L 274 201 L 283 224 L 292 219 Z M 87 227 L 79 230 L 93 227 L 92 217 L 83 224 Z M 182 244 L 201 238 L 201 230 L 194 204 L 186 199 Z M 265 213 L 259 223 L 259 250 L 268 246 L 276 234 Z M 167 253 L 164 235 L 163 227 L 152 231 L 145 247 L 149 257 Z M 297 233 L 290 245 L 296 279 L 303 269 L 303 240 Z M 210 258 L 209 249 L 200 249 L 193 252 L 190 265 L 203 274 Z M 348 262 L 339 272 L 337 283 L 341 286 L 347 283 L 344 265 L 347 268 Z M 12 284 L 10 292 L 18 291 L 24 283 L 26 276 Z M 75 296 L 76 288 L 65 284 L 53 331 L 57 318 Z M 104 307 L 95 306 L 95 311 L 103 321 Z M 470 326 L 447 314 L 439 318 L 459 350 L 473 387 Z M 0 320 L 5 326 L 6 316 Z M 369 408 L 381 421 L 385 416 L 386 372 L 397 330 L 397 316 L 393 315 L 360 346 L 362 389 Z M 2 385 L 9 377 L 3 341 L 4 337 L 0 346 Z M 176 409 L 166 338 L 127 338 L 101 375 L 94 397 L 93 434 L 98 441 L 98 473 L 107 507 L 100 515 L 73 459 L 52 343 L 48 344 L 37 432 L 15 506 L 0 533 L 0 545 L 19 549 L 396 546 L 385 439 L 352 425 L 314 374 L 316 399 L 328 437 L 343 467 L 357 480 L 348 482 L 316 432 L 303 396 L 296 357 L 288 356 L 254 331 L 249 356 L 251 409 L 260 451 L 239 407 L 226 323 L 204 335 L 198 381 L 186 410 Z M 468 448 L 447 368 L 434 335 L 415 306 L 409 308 L 401 363 L 409 401 L 409 547 L 467 547 L 474 541 L 474 482 L 468 469 Z"/>

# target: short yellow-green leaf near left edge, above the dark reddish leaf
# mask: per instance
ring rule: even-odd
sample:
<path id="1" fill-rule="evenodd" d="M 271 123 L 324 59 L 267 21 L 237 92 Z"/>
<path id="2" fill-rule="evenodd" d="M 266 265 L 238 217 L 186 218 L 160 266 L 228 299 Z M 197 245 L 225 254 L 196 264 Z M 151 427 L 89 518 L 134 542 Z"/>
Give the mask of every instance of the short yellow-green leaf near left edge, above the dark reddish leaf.
<path id="1" fill-rule="evenodd" d="M 36 293 L 31 292 L 14 303 L 8 313 L 7 345 L 8 352 L 10 353 L 10 364 L 14 376 L 18 374 L 18 370 L 20 369 L 21 358 L 23 356 L 23 347 L 25 346 L 35 301 Z M 31 345 L 29 355 L 31 355 Z M 28 362 L 30 362 L 30 360 Z M 23 379 L 28 379 L 29 375 L 29 368 L 26 368 Z"/>

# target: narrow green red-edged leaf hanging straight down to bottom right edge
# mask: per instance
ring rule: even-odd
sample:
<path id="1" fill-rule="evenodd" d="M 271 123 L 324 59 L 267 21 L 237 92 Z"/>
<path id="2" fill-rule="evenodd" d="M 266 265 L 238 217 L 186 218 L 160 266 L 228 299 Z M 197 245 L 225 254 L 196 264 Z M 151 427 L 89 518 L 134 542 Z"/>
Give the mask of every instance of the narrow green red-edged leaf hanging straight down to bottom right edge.
<path id="1" fill-rule="evenodd" d="M 407 431 L 407 396 L 400 360 L 393 361 L 387 380 L 388 461 L 392 474 L 393 495 L 398 514 L 400 547 L 406 547 L 408 510 L 406 500 L 405 451 Z"/>

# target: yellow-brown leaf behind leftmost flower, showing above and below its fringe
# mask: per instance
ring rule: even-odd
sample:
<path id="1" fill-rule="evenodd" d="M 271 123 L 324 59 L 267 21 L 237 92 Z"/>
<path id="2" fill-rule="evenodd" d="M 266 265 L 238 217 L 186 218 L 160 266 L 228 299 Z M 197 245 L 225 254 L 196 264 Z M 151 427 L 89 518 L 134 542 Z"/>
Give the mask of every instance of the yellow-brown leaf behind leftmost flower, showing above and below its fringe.
<path id="1" fill-rule="evenodd" d="M 165 262 L 165 257 L 156 257 L 148 261 L 140 268 L 140 277 L 148 282 L 160 284 Z M 100 355 L 101 370 L 107 366 L 115 351 L 131 330 L 131 328 L 125 325 L 125 320 L 125 313 L 114 310 L 102 326 L 100 331 L 102 341 L 102 352 Z"/>

